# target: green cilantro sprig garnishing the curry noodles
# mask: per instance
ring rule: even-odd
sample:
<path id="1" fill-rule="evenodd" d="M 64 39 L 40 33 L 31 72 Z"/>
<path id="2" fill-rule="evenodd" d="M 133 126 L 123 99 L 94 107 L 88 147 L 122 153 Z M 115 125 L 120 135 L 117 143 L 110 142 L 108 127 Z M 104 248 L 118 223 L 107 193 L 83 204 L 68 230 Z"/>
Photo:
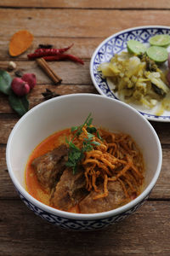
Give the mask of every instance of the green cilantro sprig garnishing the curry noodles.
<path id="1" fill-rule="evenodd" d="M 80 126 L 71 127 L 71 132 L 75 132 L 74 137 L 69 142 L 68 139 L 65 139 L 65 142 L 69 145 L 69 155 L 68 161 L 66 162 L 66 166 L 71 167 L 73 174 L 77 172 L 77 166 L 82 161 L 84 157 L 84 153 L 93 150 L 95 146 L 99 146 L 100 143 L 95 142 L 94 134 L 97 134 L 97 137 L 101 139 L 99 136 L 99 131 L 92 125 L 93 118 L 91 118 L 91 113 L 88 114 L 88 118 L 84 121 L 84 123 Z M 82 127 L 86 125 L 86 130 L 88 131 L 88 137 L 84 137 L 82 142 L 82 148 L 77 148 L 77 146 L 73 143 L 75 137 L 79 137 L 82 134 Z"/>

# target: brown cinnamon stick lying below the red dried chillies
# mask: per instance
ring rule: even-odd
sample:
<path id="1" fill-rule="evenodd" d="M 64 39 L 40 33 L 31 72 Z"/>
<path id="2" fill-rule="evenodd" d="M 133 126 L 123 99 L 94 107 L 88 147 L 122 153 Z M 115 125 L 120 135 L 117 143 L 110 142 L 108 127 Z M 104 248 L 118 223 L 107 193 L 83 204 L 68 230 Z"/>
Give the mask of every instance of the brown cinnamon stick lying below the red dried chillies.
<path id="1" fill-rule="evenodd" d="M 54 84 L 61 83 L 62 79 L 48 66 L 47 61 L 45 61 L 43 58 L 38 58 L 36 61 L 38 66 L 41 67 L 48 77 L 54 81 Z"/>

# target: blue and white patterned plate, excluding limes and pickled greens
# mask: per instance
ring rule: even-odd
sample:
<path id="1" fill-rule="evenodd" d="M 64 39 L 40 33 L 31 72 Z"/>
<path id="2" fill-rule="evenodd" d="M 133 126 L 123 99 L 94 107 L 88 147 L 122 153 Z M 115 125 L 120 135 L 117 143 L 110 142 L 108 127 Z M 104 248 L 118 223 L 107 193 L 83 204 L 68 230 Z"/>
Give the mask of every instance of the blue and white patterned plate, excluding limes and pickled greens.
<path id="1" fill-rule="evenodd" d="M 111 37 L 106 38 L 99 47 L 95 49 L 94 55 L 90 62 L 90 74 L 93 80 L 94 86 L 101 95 L 109 96 L 117 99 L 116 94 L 111 90 L 111 84 L 109 80 L 102 77 L 101 73 L 98 72 L 99 64 L 108 62 L 111 57 L 115 54 L 119 54 L 122 51 L 127 50 L 127 41 L 134 39 L 138 40 L 143 44 L 148 44 L 149 39 L 156 34 L 168 34 L 170 35 L 170 26 L 139 26 L 133 27 L 122 32 L 113 34 Z M 170 51 L 170 47 L 167 48 Z M 165 63 L 167 66 L 167 63 Z M 163 115 L 156 115 L 156 106 L 152 109 L 139 107 L 135 104 L 130 104 L 133 108 L 136 108 L 146 119 L 152 121 L 170 122 L 170 111 L 165 111 Z"/>

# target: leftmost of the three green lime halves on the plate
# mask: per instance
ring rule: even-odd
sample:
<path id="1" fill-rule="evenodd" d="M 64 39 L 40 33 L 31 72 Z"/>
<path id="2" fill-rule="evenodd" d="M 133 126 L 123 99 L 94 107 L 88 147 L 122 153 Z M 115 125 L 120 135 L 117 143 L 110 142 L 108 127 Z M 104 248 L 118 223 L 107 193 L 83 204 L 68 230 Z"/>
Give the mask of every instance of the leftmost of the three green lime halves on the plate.
<path id="1" fill-rule="evenodd" d="M 144 46 L 144 44 L 135 40 L 127 41 L 127 49 L 129 53 L 132 53 L 135 55 L 143 54 L 146 51 L 146 47 Z"/>

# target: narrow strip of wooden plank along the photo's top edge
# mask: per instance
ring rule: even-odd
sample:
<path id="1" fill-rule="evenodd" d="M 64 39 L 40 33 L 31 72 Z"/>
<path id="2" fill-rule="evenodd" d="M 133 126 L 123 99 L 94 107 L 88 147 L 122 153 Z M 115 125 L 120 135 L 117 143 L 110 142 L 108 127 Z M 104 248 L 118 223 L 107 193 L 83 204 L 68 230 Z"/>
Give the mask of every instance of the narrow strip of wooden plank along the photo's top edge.
<path id="1" fill-rule="evenodd" d="M 35 8 L 80 8 L 80 9 L 168 9 L 170 3 L 168 0 L 136 1 L 136 0 L 5 0 L 1 7 L 35 7 Z"/>

